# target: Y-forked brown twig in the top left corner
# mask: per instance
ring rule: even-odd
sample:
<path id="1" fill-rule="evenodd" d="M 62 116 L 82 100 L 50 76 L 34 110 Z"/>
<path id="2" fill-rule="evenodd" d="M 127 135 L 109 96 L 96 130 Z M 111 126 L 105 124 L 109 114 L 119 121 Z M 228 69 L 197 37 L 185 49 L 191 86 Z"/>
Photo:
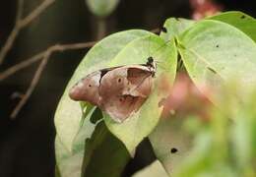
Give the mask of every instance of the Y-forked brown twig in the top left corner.
<path id="1" fill-rule="evenodd" d="M 12 29 L 10 35 L 8 36 L 5 44 L 0 51 L 0 65 L 3 63 L 7 53 L 12 48 L 20 30 L 28 26 L 32 22 L 32 20 L 38 17 L 54 1 L 55 0 L 44 0 L 37 8 L 32 11 L 30 15 L 22 19 L 24 0 L 19 0 L 14 29 Z"/>

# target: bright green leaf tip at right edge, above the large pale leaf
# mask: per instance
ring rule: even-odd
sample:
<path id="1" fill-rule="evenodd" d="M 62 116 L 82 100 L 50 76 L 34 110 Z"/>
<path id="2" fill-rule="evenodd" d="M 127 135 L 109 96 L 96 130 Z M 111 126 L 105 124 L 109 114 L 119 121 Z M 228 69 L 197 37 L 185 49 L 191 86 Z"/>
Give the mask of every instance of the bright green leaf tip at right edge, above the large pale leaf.
<path id="1" fill-rule="evenodd" d="M 221 21 L 240 29 L 256 41 L 256 20 L 242 12 L 230 11 L 209 18 L 210 20 Z"/>

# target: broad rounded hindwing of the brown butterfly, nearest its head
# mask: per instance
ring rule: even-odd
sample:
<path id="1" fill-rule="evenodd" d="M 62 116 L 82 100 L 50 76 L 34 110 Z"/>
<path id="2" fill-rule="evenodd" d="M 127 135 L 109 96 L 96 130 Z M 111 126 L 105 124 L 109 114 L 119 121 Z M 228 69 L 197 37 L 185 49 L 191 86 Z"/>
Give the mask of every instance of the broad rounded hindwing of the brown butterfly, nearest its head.
<path id="1" fill-rule="evenodd" d="M 106 73 L 100 82 L 100 108 L 117 122 L 139 110 L 152 89 L 152 71 L 146 66 L 120 67 Z"/>

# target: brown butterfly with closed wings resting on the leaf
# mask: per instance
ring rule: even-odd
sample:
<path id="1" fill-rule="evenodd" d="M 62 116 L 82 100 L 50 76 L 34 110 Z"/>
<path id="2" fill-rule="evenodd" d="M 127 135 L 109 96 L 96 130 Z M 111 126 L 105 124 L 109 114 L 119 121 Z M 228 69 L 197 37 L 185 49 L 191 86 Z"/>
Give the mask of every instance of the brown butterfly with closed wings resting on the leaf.
<path id="1" fill-rule="evenodd" d="M 88 101 L 114 121 L 123 122 L 137 112 L 150 95 L 156 70 L 152 57 L 147 64 L 102 69 L 78 82 L 69 95 L 74 100 Z"/>

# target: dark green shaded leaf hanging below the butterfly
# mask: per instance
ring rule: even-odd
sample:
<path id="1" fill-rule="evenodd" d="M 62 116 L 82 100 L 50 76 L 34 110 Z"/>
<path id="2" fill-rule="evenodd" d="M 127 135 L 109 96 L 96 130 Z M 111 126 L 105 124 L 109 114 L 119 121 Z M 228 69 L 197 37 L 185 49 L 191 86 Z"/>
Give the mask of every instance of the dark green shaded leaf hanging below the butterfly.
<path id="1" fill-rule="evenodd" d="M 86 143 L 82 176 L 119 177 L 129 159 L 124 145 L 100 121 L 92 138 Z"/>

